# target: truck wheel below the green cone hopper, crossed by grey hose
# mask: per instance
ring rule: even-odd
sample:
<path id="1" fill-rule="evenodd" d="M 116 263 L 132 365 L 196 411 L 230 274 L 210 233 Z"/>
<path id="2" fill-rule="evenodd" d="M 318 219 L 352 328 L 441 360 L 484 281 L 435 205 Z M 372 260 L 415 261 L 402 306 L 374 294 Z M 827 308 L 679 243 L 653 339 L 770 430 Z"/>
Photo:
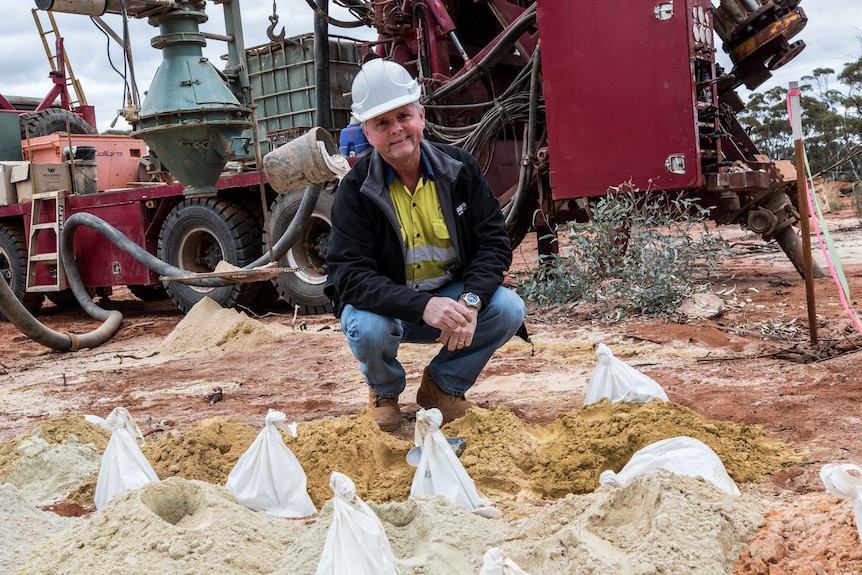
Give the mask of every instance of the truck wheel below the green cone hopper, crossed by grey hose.
<path id="1" fill-rule="evenodd" d="M 220 198 L 190 198 L 165 218 L 159 232 L 158 257 L 190 272 L 211 272 L 221 260 L 242 267 L 260 251 L 259 226 L 247 210 Z M 222 307 L 248 306 L 258 293 L 254 283 L 198 287 L 164 282 L 165 290 L 183 313 L 204 297 Z"/>

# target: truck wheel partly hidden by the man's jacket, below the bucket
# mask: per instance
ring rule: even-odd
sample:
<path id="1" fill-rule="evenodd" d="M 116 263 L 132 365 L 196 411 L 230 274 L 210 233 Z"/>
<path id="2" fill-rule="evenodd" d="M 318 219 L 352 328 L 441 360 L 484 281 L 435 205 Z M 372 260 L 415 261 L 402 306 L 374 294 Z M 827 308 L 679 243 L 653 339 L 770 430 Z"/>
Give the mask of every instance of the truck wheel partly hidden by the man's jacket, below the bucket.
<path id="1" fill-rule="evenodd" d="M 305 190 L 298 190 L 276 198 L 270 209 L 269 225 L 272 227 L 274 241 L 278 241 L 302 202 Z M 299 312 L 307 315 L 332 311 L 332 303 L 323 293 L 326 282 L 326 245 L 332 229 L 332 194 L 321 190 L 317 204 L 308 222 L 303 226 L 299 238 L 287 254 L 278 262 L 280 267 L 304 268 L 295 273 L 281 274 L 275 280 L 278 293 L 291 309 L 299 307 Z M 269 249 L 268 235 L 265 249 Z"/>

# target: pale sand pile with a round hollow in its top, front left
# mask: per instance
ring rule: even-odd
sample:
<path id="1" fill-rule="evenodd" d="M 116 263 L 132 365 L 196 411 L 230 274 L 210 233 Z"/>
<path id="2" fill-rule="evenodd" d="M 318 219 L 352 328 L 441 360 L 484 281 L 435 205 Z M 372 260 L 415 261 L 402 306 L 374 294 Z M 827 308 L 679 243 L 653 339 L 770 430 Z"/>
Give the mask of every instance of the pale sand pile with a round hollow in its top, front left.
<path id="1" fill-rule="evenodd" d="M 271 573 L 304 530 L 242 507 L 223 487 L 171 477 L 115 495 L 45 540 L 15 573 Z"/>

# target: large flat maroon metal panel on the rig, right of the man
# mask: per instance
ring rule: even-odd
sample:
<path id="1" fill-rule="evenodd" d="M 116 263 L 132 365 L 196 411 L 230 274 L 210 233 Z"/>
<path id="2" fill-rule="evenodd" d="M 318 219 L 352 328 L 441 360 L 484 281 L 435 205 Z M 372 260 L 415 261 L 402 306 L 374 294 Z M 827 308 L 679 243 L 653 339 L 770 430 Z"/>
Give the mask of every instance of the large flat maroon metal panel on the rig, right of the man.
<path id="1" fill-rule="evenodd" d="M 655 2 L 568 4 L 540 2 L 538 14 L 543 52 L 566 54 L 542 60 L 554 199 L 623 182 L 701 188 L 698 107 L 717 101 L 698 101 L 696 68 L 715 70 L 698 50 L 692 29 L 701 23 L 692 14 L 709 10 L 709 1 L 676 2 L 681 16 L 667 20 L 655 17 Z M 667 169 L 673 157 L 684 171 Z"/>

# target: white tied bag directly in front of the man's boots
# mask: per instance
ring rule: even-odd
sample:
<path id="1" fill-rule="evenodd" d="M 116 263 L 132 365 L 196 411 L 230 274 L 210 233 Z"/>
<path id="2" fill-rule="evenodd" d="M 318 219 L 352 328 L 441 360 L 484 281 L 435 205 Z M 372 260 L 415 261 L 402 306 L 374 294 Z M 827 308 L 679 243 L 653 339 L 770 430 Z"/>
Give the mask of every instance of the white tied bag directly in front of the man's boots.
<path id="1" fill-rule="evenodd" d="M 416 412 L 414 443 L 422 447 L 422 458 L 416 466 L 410 495 L 443 495 L 452 503 L 483 517 L 496 515 L 497 510 L 479 495 L 473 479 L 440 431 L 442 423 L 443 414 L 439 409 Z"/>

